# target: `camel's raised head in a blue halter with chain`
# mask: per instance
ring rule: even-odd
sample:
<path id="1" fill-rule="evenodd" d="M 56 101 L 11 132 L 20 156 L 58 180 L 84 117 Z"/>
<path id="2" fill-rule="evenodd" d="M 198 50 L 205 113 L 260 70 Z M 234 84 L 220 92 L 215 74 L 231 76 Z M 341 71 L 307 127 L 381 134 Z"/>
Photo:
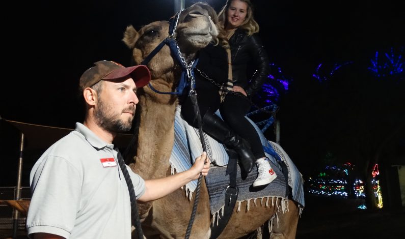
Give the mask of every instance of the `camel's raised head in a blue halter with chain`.
<path id="1" fill-rule="evenodd" d="M 186 63 L 190 63 L 199 49 L 211 41 L 217 41 L 218 30 L 211 18 L 215 11 L 207 4 L 198 3 L 181 12 L 176 26 L 176 42 Z M 174 17 L 175 18 L 175 17 Z M 132 50 L 134 64 L 142 61 L 169 36 L 169 22 L 155 21 L 143 26 L 139 31 L 129 25 L 123 41 Z M 147 64 L 153 79 L 164 79 L 173 83 L 179 63 L 173 59 L 173 52 L 165 45 Z"/>

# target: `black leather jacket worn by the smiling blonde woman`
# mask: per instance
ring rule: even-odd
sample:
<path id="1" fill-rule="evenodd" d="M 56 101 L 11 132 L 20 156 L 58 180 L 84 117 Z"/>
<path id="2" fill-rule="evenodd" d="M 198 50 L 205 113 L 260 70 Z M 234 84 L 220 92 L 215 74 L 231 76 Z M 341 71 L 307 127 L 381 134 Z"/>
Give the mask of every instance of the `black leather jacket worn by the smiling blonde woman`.
<path id="1" fill-rule="evenodd" d="M 266 50 L 257 34 L 247 35 L 246 30 L 236 29 L 229 39 L 231 47 L 232 78 L 233 85 L 245 89 L 248 97 L 251 98 L 263 85 L 270 74 L 270 66 Z M 251 66 L 250 66 L 251 65 Z M 257 70 L 252 78 L 248 76 L 248 66 Z"/>

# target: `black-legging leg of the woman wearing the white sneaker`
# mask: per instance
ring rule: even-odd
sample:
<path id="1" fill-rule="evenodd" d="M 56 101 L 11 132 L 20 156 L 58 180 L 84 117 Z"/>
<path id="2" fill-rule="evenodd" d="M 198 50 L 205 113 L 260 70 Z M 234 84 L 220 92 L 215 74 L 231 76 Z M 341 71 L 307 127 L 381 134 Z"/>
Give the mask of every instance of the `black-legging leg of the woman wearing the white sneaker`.
<path id="1" fill-rule="evenodd" d="M 245 118 L 250 108 L 251 103 L 247 98 L 228 93 L 220 106 L 220 112 L 232 130 L 250 143 L 252 153 L 256 159 L 259 159 L 265 157 L 260 137 L 256 129 Z"/>

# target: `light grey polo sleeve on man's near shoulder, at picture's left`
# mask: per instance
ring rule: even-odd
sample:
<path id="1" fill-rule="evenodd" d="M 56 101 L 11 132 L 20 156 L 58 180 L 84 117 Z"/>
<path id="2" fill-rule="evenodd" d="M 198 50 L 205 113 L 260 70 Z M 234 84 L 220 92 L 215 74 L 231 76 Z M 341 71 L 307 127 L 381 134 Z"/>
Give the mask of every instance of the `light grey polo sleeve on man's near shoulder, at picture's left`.
<path id="1" fill-rule="evenodd" d="M 44 232 L 69 238 L 80 204 L 82 176 L 66 159 L 48 156 L 31 172 L 28 234 Z"/>

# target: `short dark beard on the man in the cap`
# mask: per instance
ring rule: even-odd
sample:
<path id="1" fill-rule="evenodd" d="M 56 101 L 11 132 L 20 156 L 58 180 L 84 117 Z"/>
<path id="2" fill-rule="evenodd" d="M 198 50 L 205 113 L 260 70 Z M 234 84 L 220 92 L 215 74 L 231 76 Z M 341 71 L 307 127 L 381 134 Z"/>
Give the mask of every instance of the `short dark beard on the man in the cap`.
<path id="1" fill-rule="evenodd" d="M 112 133 L 122 133 L 131 129 L 133 117 L 125 122 L 120 118 L 121 113 L 114 113 L 113 107 L 105 104 L 100 98 L 98 98 L 98 103 L 98 107 L 94 111 L 94 117 L 101 128 Z M 134 107 L 130 106 L 123 112 L 134 112 L 134 110 Z"/>

